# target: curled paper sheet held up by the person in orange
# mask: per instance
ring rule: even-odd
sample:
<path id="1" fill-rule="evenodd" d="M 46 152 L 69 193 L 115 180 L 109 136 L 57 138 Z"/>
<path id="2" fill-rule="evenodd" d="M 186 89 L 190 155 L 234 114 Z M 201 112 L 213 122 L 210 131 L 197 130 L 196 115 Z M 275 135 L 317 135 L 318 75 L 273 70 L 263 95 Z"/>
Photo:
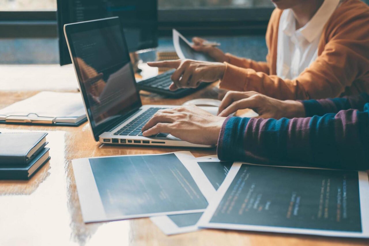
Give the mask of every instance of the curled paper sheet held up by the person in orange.
<path id="1" fill-rule="evenodd" d="M 210 56 L 202 52 L 194 51 L 190 42 L 175 29 L 173 29 L 173 45 L 180 59 L 215 62 Z"/>

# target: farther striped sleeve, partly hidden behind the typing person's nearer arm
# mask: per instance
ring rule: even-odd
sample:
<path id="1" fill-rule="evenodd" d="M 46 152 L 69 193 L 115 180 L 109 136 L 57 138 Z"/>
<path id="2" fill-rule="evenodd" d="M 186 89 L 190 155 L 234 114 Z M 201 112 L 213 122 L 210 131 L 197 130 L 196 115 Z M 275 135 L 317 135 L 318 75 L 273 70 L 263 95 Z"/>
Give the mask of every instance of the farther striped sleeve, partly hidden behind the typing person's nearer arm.
<path id="1" fill-rule="evenodd" d="M 320 100 L 303 100 L 306 117 L 323 116 L 326 113 L 338 113 L 340 110 L 357 109 L 363 111 L 365 103 L 369 102 L 369 95 L 348 96 L 344 98 L 328 98 Z"/>

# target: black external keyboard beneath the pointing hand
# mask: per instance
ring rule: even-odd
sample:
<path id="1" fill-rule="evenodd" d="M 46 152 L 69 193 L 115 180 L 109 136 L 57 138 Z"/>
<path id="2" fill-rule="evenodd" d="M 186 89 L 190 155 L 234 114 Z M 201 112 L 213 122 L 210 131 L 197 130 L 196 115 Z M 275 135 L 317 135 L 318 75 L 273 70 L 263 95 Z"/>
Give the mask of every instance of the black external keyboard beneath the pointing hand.
<path id="1" fill-rule="evenodd" d="M 153 78 L 140 81 L 137 83 L 138 89 L 155 92 L 172 98 L 180 98 L 210 85 L 210 83 L 200 83 L 197 88 L 181 88 L 173 91 L 169 90 L 169 86 L 172 83 L 171 77 L 173 72 L 174 70 L 169 70 Z"/>

